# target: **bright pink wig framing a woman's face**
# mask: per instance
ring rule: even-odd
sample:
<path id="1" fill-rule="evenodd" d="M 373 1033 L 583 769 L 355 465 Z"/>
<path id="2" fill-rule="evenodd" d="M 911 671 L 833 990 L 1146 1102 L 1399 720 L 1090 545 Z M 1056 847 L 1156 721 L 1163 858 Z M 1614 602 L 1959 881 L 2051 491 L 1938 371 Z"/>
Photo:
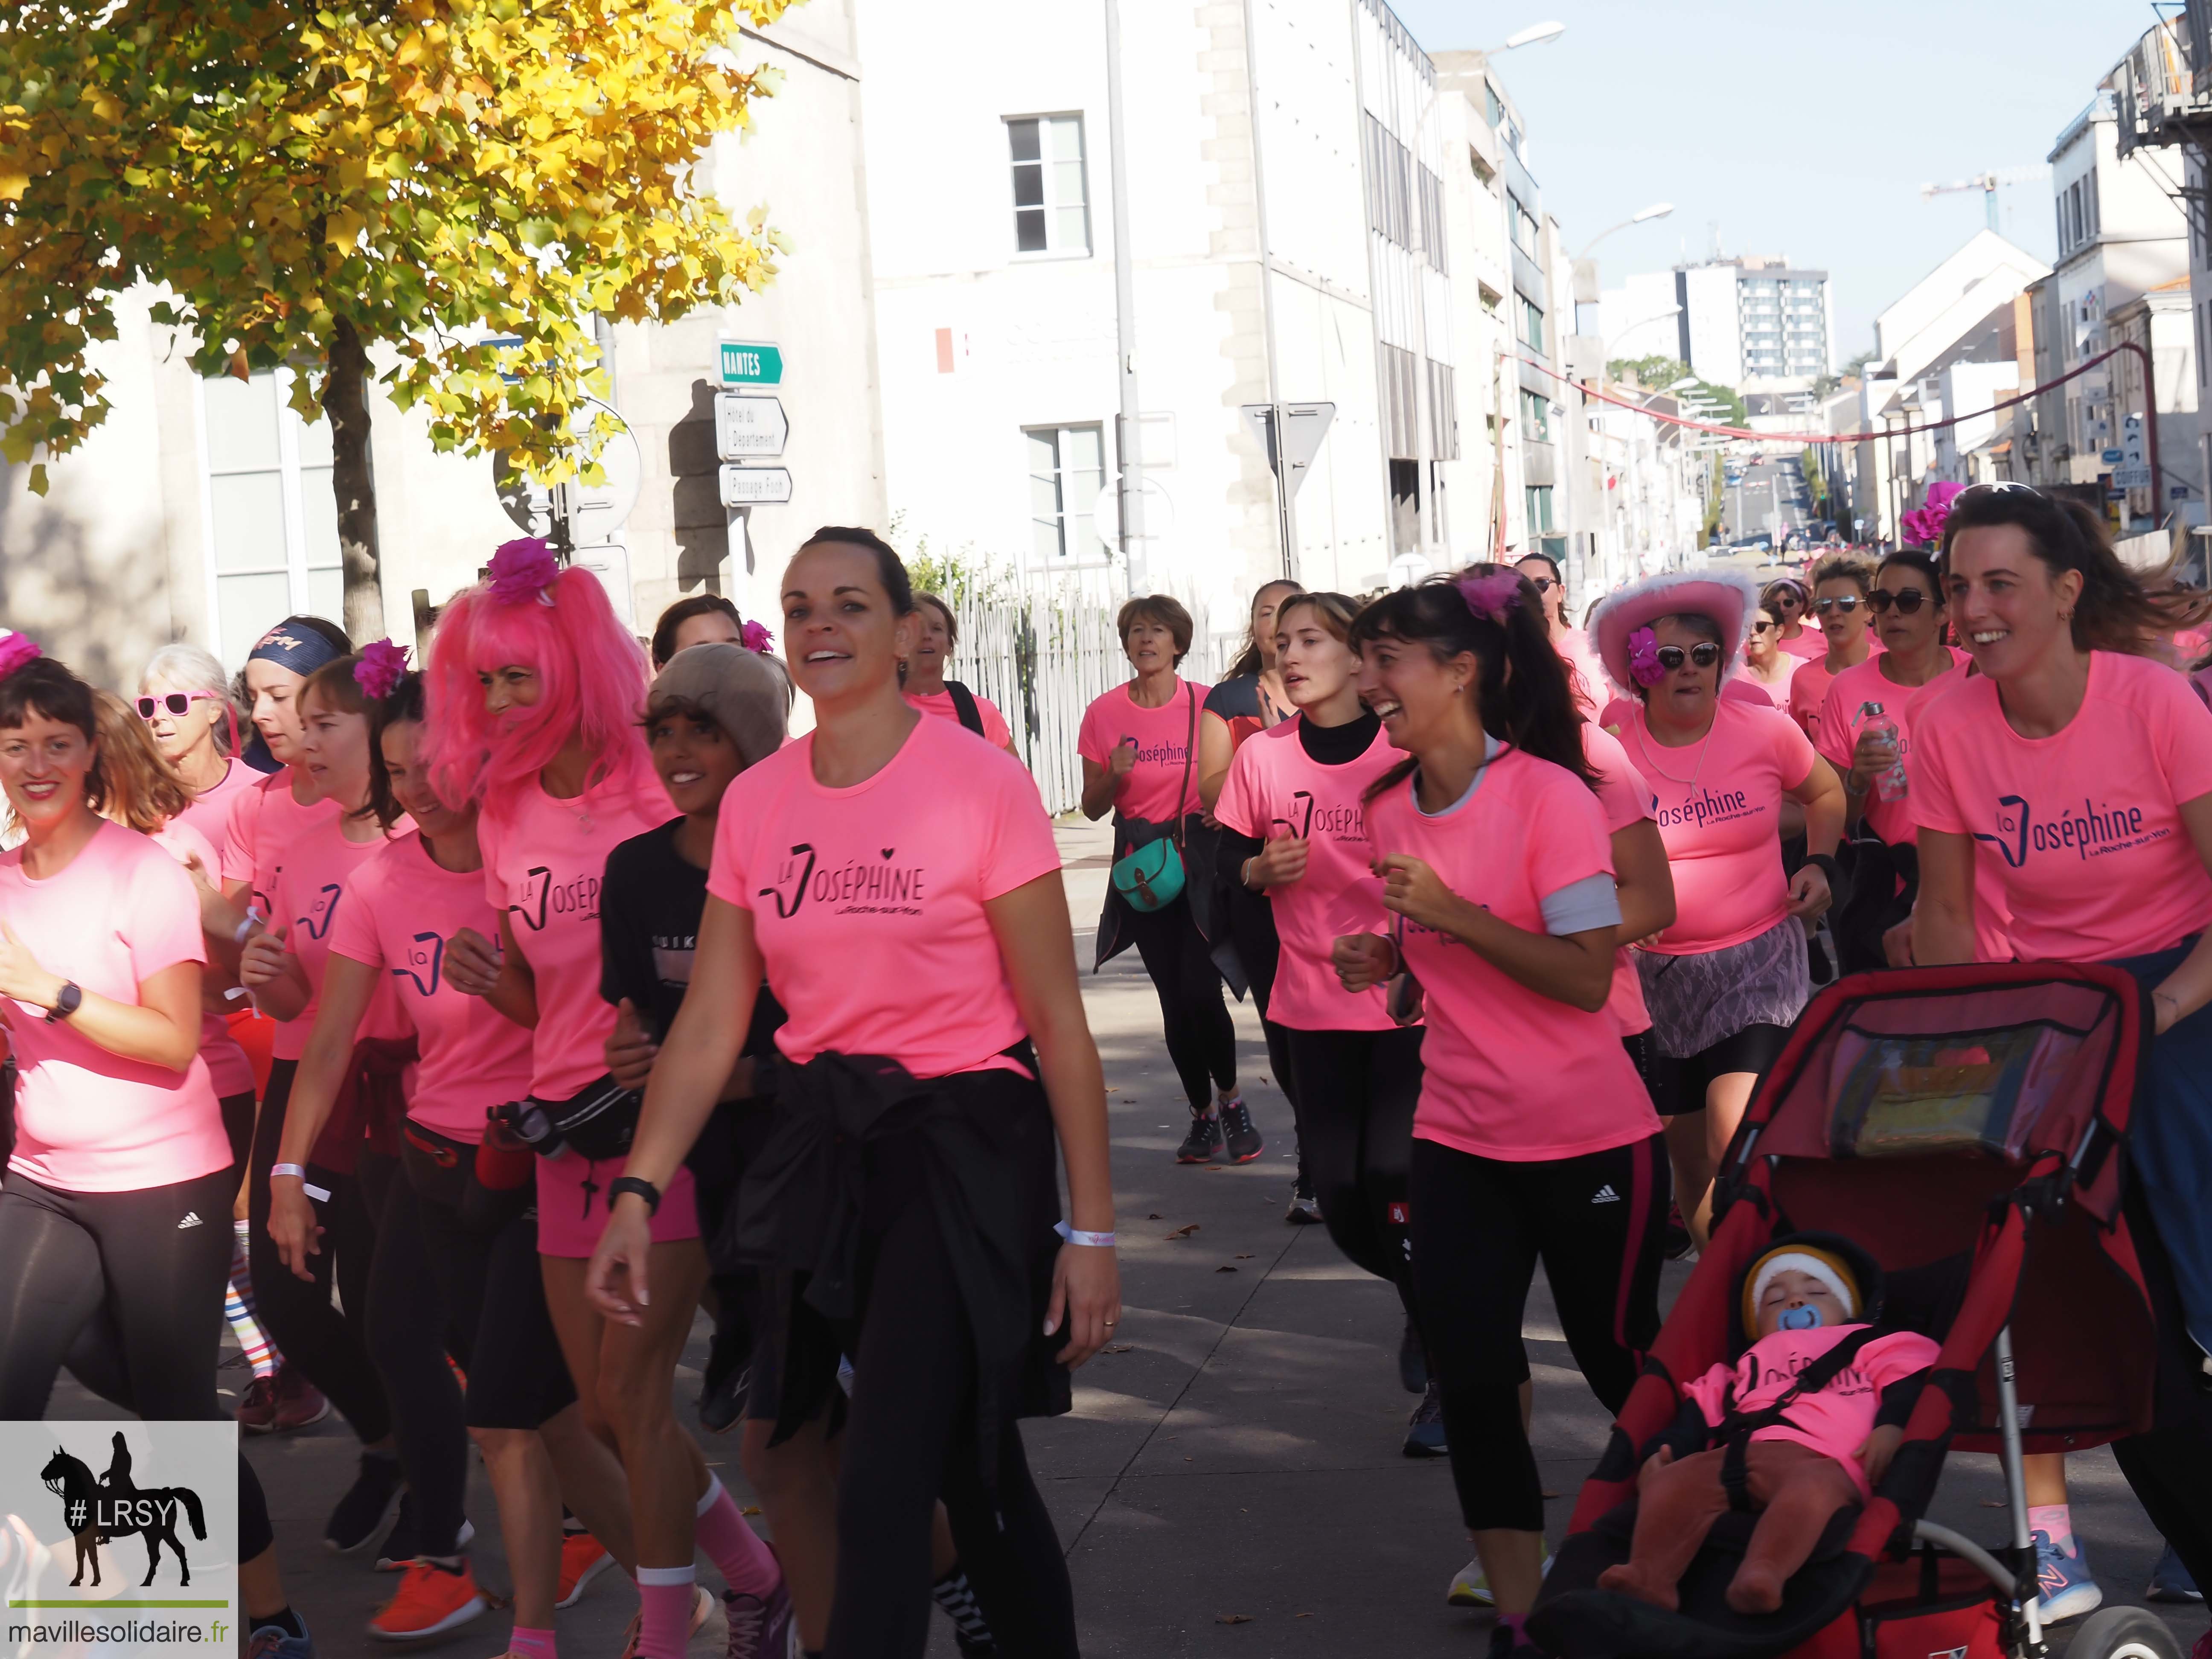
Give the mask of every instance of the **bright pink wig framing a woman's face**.
<path id="1" fill-rule="evenodd" d="M 599 577 L 566 568 L 520 602 L 478 584 L 438 617 L 425 675 L 431 781 L 447 801 L 478 801 L 502 818 L 571 737 L 591 752 L 584 794 L 659 792 L 639 723 L 646 653 L 637 648 Z M 493 717 L 478 675 L 538 675 L 533 708 Z"/>

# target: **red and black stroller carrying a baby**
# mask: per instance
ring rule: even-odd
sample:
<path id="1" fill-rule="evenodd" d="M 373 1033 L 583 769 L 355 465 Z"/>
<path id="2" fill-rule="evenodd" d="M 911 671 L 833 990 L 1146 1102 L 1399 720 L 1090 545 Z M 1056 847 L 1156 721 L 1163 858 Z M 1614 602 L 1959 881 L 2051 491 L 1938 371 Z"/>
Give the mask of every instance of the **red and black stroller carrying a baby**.
<path id="1" fill-rule="evenodd" d="M 2152 1301 L 2121 1214 L 2148 1035 L 2135 980 L 2108 967 L 1902 969 L 1820 991 L 1730 1146 L 1723 1219 L 1582 1489 L 1531 1639 L 1562 1659 L 2044 1655 L 2022 1453 L 2152 1416 Z M 1639 1451 L 1674 1422 L 1683 1380 L 1743 1349 L 1736 1283 L 1790 1232 L 1858 1241 L 1889 1281 L 1885 1327 L 1942 1345 L 1889 1473 L 1827 1526 L 1778 1613 L 1723 1599 L 1750 1513 L 1712 1528 L 1679 1613 L 1599 1590 L 1628 1559 Z M 2000 1453 L 2004 1544 L 1922 1520 L 1953 1442 Z M 2143 1608 L 2106 1608 L 2068 1659 L 2115 1655 L 2179 1646 Z"/>

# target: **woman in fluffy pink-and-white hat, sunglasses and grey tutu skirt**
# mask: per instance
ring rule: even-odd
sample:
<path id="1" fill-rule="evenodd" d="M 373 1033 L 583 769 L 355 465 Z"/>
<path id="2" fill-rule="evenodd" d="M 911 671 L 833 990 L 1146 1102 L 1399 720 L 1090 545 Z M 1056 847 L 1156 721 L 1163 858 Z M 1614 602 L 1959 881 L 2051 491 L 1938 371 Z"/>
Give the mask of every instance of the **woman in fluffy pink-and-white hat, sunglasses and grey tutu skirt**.
<path id="1" fill-rule="evenodd" d="M 1805 734 L 1770 708 L 1721 697 L 1752 599 L 1747 577 L 1681 571 L 1621 588 L 1593 617 L 1606 675 L 1637 697 L 1619 737 L 1659 796 L 1674 876 L 1677 920 L 1641 942 L 1637 973 L 1659 1046 L 1652 1097 L 1670 1117 L 1674 1190 L 1699 1243 L 1712 1172 L 1752 1084 L 1812 995 L 1803 922 L 1829 905 L 1843 834 L 1843 787 Z M 1805 810 L 1809 843 L 1794 878 L 1783 872 L 1785 801 Z"/>

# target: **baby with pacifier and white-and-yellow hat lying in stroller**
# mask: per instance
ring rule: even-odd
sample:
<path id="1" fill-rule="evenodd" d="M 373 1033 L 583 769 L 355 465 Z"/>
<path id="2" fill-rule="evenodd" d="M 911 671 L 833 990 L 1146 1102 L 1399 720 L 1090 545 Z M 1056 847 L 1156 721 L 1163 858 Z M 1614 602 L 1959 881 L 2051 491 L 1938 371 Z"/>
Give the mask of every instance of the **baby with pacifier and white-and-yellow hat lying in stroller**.
<path id="1" fill-rule="evenodd" d="M 1644 1449 L 1628 1562 L 1597 1586 L 1672 1610 L 1674 1586 L 1730 1509 L 1759 1513 L 1728 1586 L 1741 1615 L 1774 1613 L 1820 1533 L 1863 1504 L 1905 1438 L 1940 1349 L 1880 1332 L 1882 1274 L 1836 1234 L 1790 1234 L 1743 1274 L 1750 1347 L 1683 1385 L 1674 1425 Z"/>

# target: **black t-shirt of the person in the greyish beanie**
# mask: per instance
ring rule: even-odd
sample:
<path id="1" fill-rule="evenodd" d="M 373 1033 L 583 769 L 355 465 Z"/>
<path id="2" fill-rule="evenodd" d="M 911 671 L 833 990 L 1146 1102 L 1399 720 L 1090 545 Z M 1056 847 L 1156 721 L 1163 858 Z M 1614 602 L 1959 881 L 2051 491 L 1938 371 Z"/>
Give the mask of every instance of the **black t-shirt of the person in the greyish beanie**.
<path id="1" fill-rule="evenodd" d="M 599 995 L 628 998 L 655 1042 L 668 1040 L 684 1006 L 706 916 L 706 872 L 677 852 L 681 823 L 670 818 L 615 847 L 599 889 Z M 783 1006 L 763 984 L 741 1053 L 768 1053 L 781 1024 Z"/>

